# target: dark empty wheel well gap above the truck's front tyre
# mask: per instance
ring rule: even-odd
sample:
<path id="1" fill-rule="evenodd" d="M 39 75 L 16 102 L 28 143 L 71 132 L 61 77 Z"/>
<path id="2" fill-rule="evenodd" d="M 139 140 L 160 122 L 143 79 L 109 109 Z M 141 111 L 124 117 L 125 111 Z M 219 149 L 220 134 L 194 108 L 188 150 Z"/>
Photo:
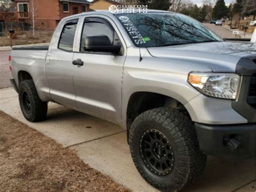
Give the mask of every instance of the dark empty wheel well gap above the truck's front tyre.
<path id="1" fill-rule="evenodd" d="M 171 107 L 186 110 L 178 100 L 163 94 L 152 92 L 136 92 L 130 97 L 126 113 L 127 136 L 134 119 L 141 113 L 158 107 Z M 129 138 L 129 137 L 128 137 Z"/>

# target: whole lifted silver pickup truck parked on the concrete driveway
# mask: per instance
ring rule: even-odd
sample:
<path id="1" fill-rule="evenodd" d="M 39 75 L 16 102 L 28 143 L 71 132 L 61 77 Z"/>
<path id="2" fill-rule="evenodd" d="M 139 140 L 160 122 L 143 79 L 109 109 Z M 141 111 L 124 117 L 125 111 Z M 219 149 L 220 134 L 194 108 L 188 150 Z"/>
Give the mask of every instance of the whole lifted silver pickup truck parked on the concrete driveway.
<path id="1" fill-rule="evenodd" d="M 160 190 L 196 181 L 206 154 L 255 156 L 256 46 L 173 12 L 82 13 L 49 47 L 11 51 L 25 118 L 48 101 L 127 129 L 138 172 Z"/>

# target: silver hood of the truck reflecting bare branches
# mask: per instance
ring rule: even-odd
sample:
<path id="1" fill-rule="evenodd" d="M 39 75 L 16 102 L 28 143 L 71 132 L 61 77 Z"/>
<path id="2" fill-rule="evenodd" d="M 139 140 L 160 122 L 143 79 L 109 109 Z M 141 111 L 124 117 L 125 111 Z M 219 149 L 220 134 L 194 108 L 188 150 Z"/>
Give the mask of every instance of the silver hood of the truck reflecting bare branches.
<path id="1" fill-rule="evenodd" d="M 250 42 L 208 42 L 147 48 L 151 56 L 206 65 L 215 72 L 235 72 L 242 57 L 256 57 L 256 45 Z"/>

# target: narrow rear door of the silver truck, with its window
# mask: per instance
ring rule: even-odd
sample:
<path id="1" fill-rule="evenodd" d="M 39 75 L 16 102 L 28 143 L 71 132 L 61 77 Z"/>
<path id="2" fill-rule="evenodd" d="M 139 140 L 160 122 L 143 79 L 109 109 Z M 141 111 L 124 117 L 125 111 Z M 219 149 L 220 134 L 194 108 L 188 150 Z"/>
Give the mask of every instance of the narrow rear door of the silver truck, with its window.
<path id="1" fill-rule="evenodd" d="M 72 60 L 77 22 L 78 19 L 75 19 L 64 24 L 58 44 L 49 47 L 46 58 L 46 77 L 52 100 L 71 108 L 76 107 L 72 80 Z"/>

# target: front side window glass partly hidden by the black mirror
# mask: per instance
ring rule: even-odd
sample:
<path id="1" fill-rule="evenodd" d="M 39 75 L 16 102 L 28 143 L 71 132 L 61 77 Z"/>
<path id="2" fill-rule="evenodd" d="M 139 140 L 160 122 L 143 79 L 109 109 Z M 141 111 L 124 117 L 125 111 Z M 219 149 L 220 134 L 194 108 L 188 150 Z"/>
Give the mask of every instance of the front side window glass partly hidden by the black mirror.
<path id="1" fill-rule="evenodd" d="M 107 36 L 112 45 L 120 45 L 120 40 L 117 36 L 116 31 L 112 28 L 112 26 L 104 19 L 100 18 L 89 18 L 85 19 L 82 39 L 81 39 L 81 52 L 87 52 L 84 47 L 85 38 L 92 36 Z"/>

